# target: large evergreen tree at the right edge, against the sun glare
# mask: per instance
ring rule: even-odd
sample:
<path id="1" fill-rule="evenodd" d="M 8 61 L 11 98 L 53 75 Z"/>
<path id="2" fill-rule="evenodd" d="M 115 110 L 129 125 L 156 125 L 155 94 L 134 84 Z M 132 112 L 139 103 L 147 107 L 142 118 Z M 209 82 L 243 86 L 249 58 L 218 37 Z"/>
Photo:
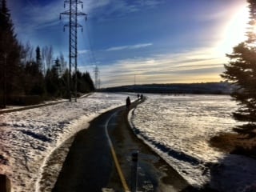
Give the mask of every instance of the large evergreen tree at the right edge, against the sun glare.
<path id="1" fill-rule="evenodd" d="M 230 62 L 225 65 L 226 71 L 221 75 L 235 86 L 231 96 L 238 102 L 234 118 L 246 122 L 234 130 L 241 134 L 255 135 L 256 130 L 256 1 L 248 0 L 250 8 L 250 27 L 247 40 L 234 46 L 232 54 L 226 54 Z"/>

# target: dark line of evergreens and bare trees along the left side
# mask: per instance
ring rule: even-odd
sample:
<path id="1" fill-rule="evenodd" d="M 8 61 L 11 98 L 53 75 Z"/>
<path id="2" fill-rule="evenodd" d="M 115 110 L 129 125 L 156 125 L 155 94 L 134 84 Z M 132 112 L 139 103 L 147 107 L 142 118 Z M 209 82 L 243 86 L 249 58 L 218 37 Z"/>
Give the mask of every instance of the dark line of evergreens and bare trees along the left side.
<path id="1" fill-rule="evenodd" d="M 14 24 L 6 0 L 0 4 L 0 106 L 33 104 L 50 98 L 68 98 L 68 75 L 63 54 L 54 58 L 52 46 L 35 49 L 22 45 L 14 33 Z M 71 74 L 74 80 L 75 74 Z M 74 81 L 70 83 L 71 92 Z M 77 71 L 78 93 L 94 90 L 88 72 Z"/>

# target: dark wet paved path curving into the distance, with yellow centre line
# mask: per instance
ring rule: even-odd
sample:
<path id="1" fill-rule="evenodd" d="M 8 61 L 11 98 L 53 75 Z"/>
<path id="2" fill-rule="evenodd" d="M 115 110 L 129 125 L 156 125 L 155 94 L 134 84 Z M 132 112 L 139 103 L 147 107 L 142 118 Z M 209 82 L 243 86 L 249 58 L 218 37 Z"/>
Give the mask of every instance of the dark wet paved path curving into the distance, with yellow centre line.
<path id="1" fill-rule="evenodd" d="M 134 102 L 131 107 L 138 103 Z M 175 170 L 134 135 L 127 114 L 124 106 L 110 110 L 77 134 L 53 191 L 127 191 L 131 185 L 134 150 L 139 151 L 139 191 L 180 191 L 188 186 Z M 113 160 L 111 145 L 116 160 Z"/>

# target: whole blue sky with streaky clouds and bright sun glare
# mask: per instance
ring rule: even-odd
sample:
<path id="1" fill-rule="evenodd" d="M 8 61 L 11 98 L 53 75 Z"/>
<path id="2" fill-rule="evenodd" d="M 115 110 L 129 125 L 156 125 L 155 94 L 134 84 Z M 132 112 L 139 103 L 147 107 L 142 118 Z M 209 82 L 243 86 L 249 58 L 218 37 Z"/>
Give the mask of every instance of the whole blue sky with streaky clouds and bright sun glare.
<path id="1" fill-rule="evenodd" d="M 82 0 L 78 69 L 101 87 L 219 82 L 226 54 L 246 39 L 246 0 Z M 18 39 L 69 55 L 64 0 L 8 0 Z"/>

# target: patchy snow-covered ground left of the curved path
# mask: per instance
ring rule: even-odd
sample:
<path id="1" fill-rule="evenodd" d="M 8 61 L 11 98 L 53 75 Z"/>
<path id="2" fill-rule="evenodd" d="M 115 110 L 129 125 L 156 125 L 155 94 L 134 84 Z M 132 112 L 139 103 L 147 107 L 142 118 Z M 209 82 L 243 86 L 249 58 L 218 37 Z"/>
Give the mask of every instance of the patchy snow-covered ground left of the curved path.
<path id="1" fill-rule="evenodd" d="M 40 181 L 50 154 L 99 114 L 124 105 L 126 97 L 127 94 L 95 93 L 78 102 L 1 114 L 0 174 L 10 178 L 11 191 L 41 191 Z M 61 166 L 56 167 L 57 171 L 60 169 Z"/>

